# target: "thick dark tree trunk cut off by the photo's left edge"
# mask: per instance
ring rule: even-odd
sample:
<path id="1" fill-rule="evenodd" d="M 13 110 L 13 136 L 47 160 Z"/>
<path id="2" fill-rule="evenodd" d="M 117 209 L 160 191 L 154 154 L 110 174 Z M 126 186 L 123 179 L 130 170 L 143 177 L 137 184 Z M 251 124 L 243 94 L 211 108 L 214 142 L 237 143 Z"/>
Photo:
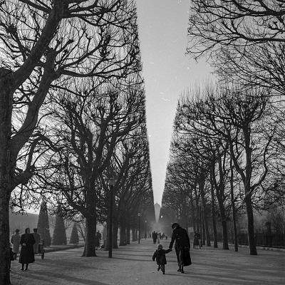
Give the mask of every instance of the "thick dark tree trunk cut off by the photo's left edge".
<path id="1" fill-rule="evenodd" d="M 0 284 L 8 285 L 9 272 L 9 200 L 11 195 L 11 115 L 10 71 L 0 68 Z"/>

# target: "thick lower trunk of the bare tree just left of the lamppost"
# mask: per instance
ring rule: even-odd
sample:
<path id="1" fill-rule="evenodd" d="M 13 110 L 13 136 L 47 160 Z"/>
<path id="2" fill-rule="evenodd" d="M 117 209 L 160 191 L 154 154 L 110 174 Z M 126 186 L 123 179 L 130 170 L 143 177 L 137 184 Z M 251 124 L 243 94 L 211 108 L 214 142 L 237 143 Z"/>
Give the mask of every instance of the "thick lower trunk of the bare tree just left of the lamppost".
<path id="1" fill-rule="evenodd" d="M 93 215 L 86 217 L 86 241 L 83 257 L 96 257 L 95 247 L 96 219 Z"/>

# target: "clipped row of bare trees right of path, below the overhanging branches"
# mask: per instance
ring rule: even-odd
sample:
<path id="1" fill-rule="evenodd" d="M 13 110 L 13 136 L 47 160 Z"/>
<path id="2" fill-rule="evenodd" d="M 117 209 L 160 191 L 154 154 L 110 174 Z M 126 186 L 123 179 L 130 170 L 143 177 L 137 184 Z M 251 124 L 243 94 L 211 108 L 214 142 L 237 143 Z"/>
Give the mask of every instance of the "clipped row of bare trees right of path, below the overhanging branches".
<path id="1" fill-rule="evenodd" d="M 254 209 L 284 205 L 283 118 L 281 104 L 272 103 L 263 88 L 212 87 L 185 95 L 177 106 L 163 204 L 185 219 L 191 215 L 195 229 L 202 219 L 208 245 L 212 216 L 217 246 L 218 213 L 224 249 L 229 217 L 237 249 L 237 214 L 246 212 L 250 253 L 257 254 Z"/>

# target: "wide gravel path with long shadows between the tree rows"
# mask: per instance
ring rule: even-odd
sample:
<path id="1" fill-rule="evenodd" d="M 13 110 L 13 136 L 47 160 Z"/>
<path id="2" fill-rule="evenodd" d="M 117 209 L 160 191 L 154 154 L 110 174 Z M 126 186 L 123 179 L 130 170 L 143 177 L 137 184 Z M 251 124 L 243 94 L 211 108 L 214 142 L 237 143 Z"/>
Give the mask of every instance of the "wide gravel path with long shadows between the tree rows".
<path id="1" fill-rule="evenodd" d="M 162 241 L 165 248 L 169 241 Z M 191 249 L 192 265 L 177 272 L 175 252 L 167 254 L 166 273 L 157 272 L 151 261 L 156 246 L 150 240 L 132 243 L 98 257 L 81 257 L 83 249 L 70 249 L 36 257 L 28 271 L 12 261 L 13 285 L 277 285 L 285 284 L 285 252 L 260 250 L 250 256 L 247 249 L 224 251 L 204 247 Z"/>

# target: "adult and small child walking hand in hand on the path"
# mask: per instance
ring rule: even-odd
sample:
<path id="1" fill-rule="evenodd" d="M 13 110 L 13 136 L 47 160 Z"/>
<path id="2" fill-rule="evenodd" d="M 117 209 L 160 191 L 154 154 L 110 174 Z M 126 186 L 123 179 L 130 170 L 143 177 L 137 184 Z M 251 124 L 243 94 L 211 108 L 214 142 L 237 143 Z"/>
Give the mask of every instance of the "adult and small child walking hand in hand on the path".
<path id="1" fill-rule="evenodd" d="M 152 260 L 157 263 L 157 271 L 162 271 L 165 274 L 165 264 L 167 264 L 165 254 L 172 251 L 175 243 L 175 253 L 177 257 L 178 272 L 184 273 L 184 266 L 192 264 L 190 257 L 190 239 L 186 229 L 180 227 L 179 224 L 172 224 L 172 237 L 168 249 L 163 249 L 162 244 L 159 244 L 157 250 L 152 256 Z"/>

